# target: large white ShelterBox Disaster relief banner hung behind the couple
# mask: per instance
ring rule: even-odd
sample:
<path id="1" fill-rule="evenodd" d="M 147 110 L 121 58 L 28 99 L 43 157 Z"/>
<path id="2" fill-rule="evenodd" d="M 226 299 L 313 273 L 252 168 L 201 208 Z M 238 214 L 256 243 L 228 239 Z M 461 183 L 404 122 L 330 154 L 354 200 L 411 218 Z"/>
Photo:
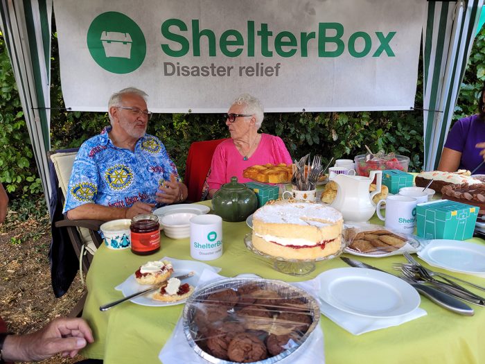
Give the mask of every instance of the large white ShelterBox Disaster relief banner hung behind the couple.
<path id="1" fill-rule="evenodd" d="M 152 112 L 409 110 L 423 0 L 57 0 L 62 93 L 106 111 L 138 87 Z"/>

